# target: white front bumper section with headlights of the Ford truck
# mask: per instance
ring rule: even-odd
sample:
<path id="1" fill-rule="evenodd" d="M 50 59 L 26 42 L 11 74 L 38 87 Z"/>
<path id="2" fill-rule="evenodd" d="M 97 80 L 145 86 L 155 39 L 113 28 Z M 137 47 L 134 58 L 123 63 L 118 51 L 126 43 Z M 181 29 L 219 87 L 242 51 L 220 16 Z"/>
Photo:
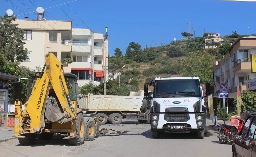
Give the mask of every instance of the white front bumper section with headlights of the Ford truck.
<path id="1" fill-rule="evenodd" d="M 159 118 L 160 117 L 160 118 Z M 179 122 L 179 120 L 174 120 L 176 122 L 167 122 L 164 120 L 159 121 L 159 119 L 163 119 L 164 114 L 159 113 L 151 113 L 150 117 L 150 126 L 151 131 L 162 131 L 162 132 L 180 132 L 180 133 L 189 133 L 196 131 L 204 131 L 205 128 L 205 114 L 204 113 L 196 113 L 196 114 L 188 114 L 188 120 L 185 122 Z"/>

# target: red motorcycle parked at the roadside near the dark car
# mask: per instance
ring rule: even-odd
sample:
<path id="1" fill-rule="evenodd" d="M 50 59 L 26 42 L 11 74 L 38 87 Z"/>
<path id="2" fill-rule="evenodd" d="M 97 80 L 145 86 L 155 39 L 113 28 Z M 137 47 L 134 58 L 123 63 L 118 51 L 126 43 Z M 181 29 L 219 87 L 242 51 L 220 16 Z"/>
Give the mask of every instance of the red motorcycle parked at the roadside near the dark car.
<path id="1" fill-rule="evenodd" d="M 219 124 L 220 128 L 218 128 L 218 134 L 217 137 L 219 138 L 220 143 L 226 144 L 227 142 L 233 142 L 233 138 L 239 131 L 242 129 L 245 121 L 242 119 L 238 119 L 238 132 L 236 132 L 235 126 L 230 126 L 228 124 Z"/>

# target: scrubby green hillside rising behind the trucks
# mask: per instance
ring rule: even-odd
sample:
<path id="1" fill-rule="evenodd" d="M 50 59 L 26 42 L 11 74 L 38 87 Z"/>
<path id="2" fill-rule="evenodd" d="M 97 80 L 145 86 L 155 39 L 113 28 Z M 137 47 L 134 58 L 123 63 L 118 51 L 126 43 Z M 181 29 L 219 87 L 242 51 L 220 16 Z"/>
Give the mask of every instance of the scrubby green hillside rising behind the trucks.
<path id="1" fill-rule="evenodd" d="M 121 88 L 118 88 L 119 78 L 108 80 L 106 93 L 110 95 L 129 95 L 130 91 L 144 89 L 146 82 L 151 82 L 155 77 L 175 76 L 199 76 L 201 81 L 211 82 L 213 75 L 211 68 L 213 61 L 219 61 L 230 48 L 231 43 L 238 38 L 249 35 L 239 35 L 232 31 L 232 35 L 224 36 L 224 44 L 219 42 L 206 43 L 209 49 L 204 49 L 204 40 L 208 33 L 202 37 L 191 38 L 187 33 L 188 40 L 173 41 L 170 44 L 148 47 L 141 49 L 136 42 L 128 44 L 123 54 L 119 48 L 115 49 L 115 56 L 109 56 L 109 73 L 119 73 L 121 69 Z M 252 34 L 251 36 L 255 36 Z M 223 37 L 222 37 L 223 38 Z M 210 47 L 216 48 L 210 48 Z M 104 83 L 92 87 L 87 85 L 81 87 L 82 93 L 92 92 L 94 94 L 104 93 Z"/>

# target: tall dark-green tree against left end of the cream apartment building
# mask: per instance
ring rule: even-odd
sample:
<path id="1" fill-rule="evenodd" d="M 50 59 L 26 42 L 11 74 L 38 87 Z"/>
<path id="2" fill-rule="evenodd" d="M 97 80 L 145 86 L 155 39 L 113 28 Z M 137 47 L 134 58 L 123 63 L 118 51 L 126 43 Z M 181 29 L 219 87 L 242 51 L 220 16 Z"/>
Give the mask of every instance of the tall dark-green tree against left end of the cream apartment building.
<path id="1" fill-rule="evenodd" d="M 24 30 L 18 28 L 18 24 L 12 24 L 15 17 L 10 18 L 5 14 L 0 19 L 0 53 L 11 62 L 28 59 L 27 49 L 23 47 L 26 43 L 22 41 Z"/>

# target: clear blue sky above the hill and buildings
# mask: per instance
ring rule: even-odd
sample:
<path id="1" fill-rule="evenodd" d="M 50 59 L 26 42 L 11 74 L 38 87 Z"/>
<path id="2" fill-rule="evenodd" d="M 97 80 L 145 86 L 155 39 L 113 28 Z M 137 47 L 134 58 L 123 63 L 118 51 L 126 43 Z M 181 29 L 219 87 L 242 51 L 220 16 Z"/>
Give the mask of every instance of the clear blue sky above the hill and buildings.
<path id="1" fill-rule="evenodd" d="M 0 15 L 13 10 L 18 19 L 36 19 L 37 7 L 45 9 L 47 20 L 71 20 L 73 28 L 90 28 L 103 33 L 108 27 L 109 54 L 116 48 L 125 54 L 130 42 L 146 45 L 181 40 L 181 32 L 202 36 L 205 32 L 229 35 L 256 34 L 256 2 L 215 0 L 1 0 Z M 22 4 L 22 3 L 23 4 Z M 71 2 L 63 4 L 65 2 Z M 10 4 L 11 3 L 11 4 Z M 13 3 L 13 4 L 12 4 Z M 55 7 L 53 7 L 55 6 Z M 49 8 L 52 7 L 52 8 Z M 47 9 L 49 8 L 49 9 Z M 75 13 L 73 12 L 73 10 Z M 63 11 L 62 11 L 63 10 Z M 32 12 L 32 13 L 29 13 Z M 65 13 L 67 14 L 65 14 Z M 24 13 L 29 13 L 21 15 Z M 78 16 L 79 17 L 78 17 Z M 192 32 L 193 26 L 193 32 Z"/>

